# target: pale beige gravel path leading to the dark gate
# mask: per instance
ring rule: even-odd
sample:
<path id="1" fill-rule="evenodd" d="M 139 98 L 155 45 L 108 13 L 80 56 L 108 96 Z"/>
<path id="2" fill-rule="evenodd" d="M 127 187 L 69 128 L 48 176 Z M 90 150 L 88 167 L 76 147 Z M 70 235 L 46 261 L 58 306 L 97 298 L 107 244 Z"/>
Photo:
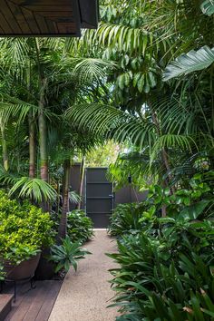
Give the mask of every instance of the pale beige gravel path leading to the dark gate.
<path id="1" fill-rule="evenodd" d="M 115 264 L 105 253 L 115 252 L 116 244 L 105 230 L 96 230 L 84 248 L 92 252 L 64 278 L 49 321 L 115 321 L 116 308 L 107 308 L 114 295 L 108 272 Z"/>

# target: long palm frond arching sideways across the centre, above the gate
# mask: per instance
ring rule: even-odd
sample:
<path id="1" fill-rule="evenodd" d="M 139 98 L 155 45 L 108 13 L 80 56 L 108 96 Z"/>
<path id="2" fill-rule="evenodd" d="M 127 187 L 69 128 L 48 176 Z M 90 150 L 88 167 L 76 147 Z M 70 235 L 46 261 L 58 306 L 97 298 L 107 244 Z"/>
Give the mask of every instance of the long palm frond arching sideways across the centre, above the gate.
<path id="1" fill-rule="evenodd" d="M 102 139 L 113 138 L 122 142 L 130 140 L 141 148 L 155 141 L 155 125 L 137 116 L 102 104 L 75 105 L 68 109 L 65 117 L 79 128 L 87 128 Z"/>

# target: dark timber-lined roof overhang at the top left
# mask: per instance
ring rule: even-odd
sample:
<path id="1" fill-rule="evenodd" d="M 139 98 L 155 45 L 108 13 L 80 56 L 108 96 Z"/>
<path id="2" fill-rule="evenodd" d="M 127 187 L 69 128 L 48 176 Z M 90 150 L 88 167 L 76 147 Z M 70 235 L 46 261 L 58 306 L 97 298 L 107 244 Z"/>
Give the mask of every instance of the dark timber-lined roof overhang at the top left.
<path id="1" fill-rule="evenodd" d="M 96 0 L 0 0 L 0 36 L 79 36 L 85 18 L 96 27 L 97 12 Z"/>

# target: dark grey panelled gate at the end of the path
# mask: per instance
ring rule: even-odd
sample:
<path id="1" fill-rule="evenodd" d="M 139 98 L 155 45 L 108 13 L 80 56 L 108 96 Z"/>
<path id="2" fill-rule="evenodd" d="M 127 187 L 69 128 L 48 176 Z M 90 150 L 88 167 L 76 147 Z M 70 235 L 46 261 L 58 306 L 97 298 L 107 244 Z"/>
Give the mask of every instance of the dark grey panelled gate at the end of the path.
<path id="1" fill-rule="evenodd" d="M 85 175 L 85 208 L 94 228 L 107 228 L 113 209 L 112 183 L 106 168 L 87 168 Z"/>

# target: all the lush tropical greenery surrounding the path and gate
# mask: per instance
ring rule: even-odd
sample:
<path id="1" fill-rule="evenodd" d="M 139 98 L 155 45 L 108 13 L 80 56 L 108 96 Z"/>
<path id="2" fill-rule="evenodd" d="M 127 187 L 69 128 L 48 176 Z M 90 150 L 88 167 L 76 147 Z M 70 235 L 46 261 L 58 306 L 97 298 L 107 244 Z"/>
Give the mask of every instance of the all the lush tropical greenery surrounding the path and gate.
<path id="1" fill-rule="evenodd" d="M 124 151 L 109 167 L 115 189 L 130 177 L 148 190 L 111 218 L 117 320 L 212 320 L 213 1 L 102 0 L 100 14 L 80 39 L 0 39 L 3 262 L 43 250 L 55 272 L 77 268 L 92 238 L 85 160 L 114 141 Z"/>

